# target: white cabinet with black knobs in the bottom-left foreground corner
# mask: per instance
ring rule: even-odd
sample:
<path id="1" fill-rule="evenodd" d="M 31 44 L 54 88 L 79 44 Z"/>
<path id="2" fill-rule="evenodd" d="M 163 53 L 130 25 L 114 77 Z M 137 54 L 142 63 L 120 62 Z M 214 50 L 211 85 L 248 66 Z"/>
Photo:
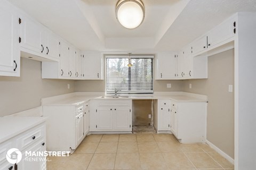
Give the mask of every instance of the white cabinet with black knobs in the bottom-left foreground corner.
<path id="1" fill-rule="evenodd" d="M 9 149 L 17 148 L 21 151 L 22 158 L 17 164 L 20 170 L 46 170 L 46 157 L 32 156 L 26 152 L 38 153 L 46 151 L 45 122 L 22 132 L 15 137 L 0 143 L 0 170 L 14 169 L 14 164 L 7 162 L 5 156 Z"/>

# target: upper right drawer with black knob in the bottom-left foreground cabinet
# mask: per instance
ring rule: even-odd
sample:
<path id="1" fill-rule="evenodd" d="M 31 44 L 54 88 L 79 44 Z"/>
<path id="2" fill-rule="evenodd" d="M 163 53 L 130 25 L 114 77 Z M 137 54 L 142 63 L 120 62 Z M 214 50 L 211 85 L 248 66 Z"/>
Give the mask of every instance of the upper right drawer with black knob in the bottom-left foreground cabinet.
<path id="1" fill-rule="evenodd" d="M 20 150 L 25 149 L 26 147 L 33 145 L 38 139 L 42 139 L 45 137 L 45 125 L 39 126 L 39 128 L 31 131 L 25 132 L 22 137 L 17 139 L 17 147 Z"/>

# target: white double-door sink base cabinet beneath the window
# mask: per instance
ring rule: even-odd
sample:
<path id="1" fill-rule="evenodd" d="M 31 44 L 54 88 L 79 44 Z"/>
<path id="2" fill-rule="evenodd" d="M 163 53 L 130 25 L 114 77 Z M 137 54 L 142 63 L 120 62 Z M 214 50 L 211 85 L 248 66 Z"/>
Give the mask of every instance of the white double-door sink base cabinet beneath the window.
<path id="1" fill-rule="evenodd" d="M 90 132 L 132 131 L 131 106 L 125 99 L 91 100 Z"/>

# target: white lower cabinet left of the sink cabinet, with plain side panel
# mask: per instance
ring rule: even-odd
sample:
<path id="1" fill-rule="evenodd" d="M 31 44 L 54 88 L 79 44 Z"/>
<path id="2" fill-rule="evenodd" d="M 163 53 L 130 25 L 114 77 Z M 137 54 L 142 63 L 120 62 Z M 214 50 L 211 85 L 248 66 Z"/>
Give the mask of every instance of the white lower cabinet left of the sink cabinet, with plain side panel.
<path id="1" fill-rule="evenodd" d="M 85 104 L 78 106 L 43 106 L 47 116 L 47 150 L 70 151 L 78 147 L 84 134 Z M 61 121 L 60 121 L 61 120 Z"/>

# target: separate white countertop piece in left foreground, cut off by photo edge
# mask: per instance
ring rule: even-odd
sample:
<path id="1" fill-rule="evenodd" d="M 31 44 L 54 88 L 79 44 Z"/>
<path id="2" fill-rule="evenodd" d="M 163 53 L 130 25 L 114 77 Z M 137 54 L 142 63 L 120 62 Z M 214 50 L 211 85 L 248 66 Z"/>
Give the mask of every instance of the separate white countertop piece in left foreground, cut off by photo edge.
<path id="1" fill-rule="evenodd" d="M 46 121 L 47 117 L 0 117 L 0 143 Z"/>

